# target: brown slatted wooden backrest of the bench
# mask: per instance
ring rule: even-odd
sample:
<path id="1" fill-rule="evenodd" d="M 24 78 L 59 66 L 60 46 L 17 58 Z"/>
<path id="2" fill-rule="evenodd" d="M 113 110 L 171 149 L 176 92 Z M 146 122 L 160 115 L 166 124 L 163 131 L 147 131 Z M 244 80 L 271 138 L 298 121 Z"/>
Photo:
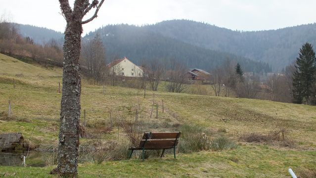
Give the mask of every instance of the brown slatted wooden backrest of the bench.
<path id="1" fill-rule="evenodd" d="M 144 133 L 139 147 L 144 148 L 167 148 L 178 145 L 180 132 L 172 133 Z"/>

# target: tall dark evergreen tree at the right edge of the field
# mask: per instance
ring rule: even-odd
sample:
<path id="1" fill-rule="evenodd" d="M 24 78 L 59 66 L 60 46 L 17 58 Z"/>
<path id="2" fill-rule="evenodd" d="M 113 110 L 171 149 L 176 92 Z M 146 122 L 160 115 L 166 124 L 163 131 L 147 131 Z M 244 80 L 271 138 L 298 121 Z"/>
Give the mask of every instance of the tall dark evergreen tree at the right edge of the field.
<path id="1" fill-rule="evenodd" d="M 295 71 L 293 74 L 293 102 L 301 104 L 310 102 L 315 96 L 315 72 L 316 58 L 313 46 L 306 43 L 300 48 L 299 57 L 296 58 Z"/>

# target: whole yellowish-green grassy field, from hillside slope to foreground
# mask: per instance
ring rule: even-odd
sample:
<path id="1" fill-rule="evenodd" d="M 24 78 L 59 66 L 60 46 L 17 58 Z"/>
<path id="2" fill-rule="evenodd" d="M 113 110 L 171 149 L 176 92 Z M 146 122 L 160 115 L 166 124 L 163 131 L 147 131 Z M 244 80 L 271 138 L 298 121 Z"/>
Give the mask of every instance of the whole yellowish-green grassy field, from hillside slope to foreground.
<path id="1" fill-rule="evenodd" d="M 16 87 L 13 88 L 13 80 Z M 31 65 L 0 54 L 0 133 L 22 132 L 34 144 L 56 144 L 59 127 L 62 81 L 60 68 Z M 162 90 L 163 87 L 159 89 Z M 8 99 L 13 118 L 7 118 Z M 158 119 L 150 113 L 153 100 L 159 105 Z M 164 100 L 164 113 L 162 113 Z M 211 135 L 224 134 L 238 146 L 225 151 L 179 154 L 177 159 L 108 161 L 79 166 L 80 177 L 289 177 L 287 169 L 315 170 L 316 107 L 265 100 L 215 97 L 187 93 L 82 85 L 82 119 L 86 110 L 88 129 L 108 127 L 112 113 L 115 129 L 101 134 L 103 140 L 124 139 L 116 123 L 126 111 L 139 109 L 143 131 L 176 131 L 182 124 L 205 128 Z M 284 146 L 276 141 L 248 143 L 248 134 L 271 134 L 285 129 L 291 140 Z M 224 131 L 224 132 L 223 132 Z M 81 143 L 89 141 L 82 139 Z M 52 177 L 53 167 L 0 167 L 9 177 Z M 16 175 L 15 175 L 16 174 Z"/>

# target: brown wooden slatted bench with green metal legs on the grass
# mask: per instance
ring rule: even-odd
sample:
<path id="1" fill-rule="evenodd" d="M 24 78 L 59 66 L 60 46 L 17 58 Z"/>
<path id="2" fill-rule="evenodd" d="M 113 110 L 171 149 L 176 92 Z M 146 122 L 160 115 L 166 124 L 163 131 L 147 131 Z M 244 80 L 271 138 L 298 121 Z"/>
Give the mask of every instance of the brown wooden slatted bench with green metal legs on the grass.
<path id="1" fill-rule="evenodd" d="M 164 155 L 165 149 L 174 149 L 174 157 L 176 158 L 176 146 L 179 142 L 179 137 L 181 132 L 172 133 L 144 133 L 142 139 L 137 147 L 130 147 L 132 150 L 129 159 L 132 157 L 134 150 L 142 150 L 142 160 L 144 161 L 145 150 L 160 150 L 162 149 L 162 154 Z"/>

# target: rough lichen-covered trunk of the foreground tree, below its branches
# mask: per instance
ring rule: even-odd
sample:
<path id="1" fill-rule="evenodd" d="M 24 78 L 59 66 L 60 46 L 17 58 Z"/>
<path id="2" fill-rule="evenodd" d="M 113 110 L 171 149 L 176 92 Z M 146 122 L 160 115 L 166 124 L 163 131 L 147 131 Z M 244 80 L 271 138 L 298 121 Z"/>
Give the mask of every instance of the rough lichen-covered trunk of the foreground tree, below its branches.
<path id="1" fill-rule="evenodd" d="M 58 170 L 63 176 L 76 177 L 79 157 L 81 77 L 81 18 L 68 22 L 65 30 L 62 98 L 58 145 Z"/>

